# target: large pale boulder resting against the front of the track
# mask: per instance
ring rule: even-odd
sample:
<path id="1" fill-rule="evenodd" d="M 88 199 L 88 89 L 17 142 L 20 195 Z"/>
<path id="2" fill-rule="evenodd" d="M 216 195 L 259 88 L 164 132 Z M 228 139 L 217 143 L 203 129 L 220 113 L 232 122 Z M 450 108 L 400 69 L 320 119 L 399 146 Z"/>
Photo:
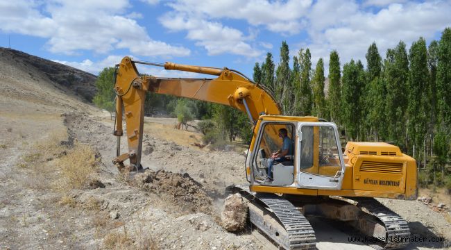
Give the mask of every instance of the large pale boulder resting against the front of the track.
<path id="1" fill-rule="evenodd" d="M 248 204 L 240 194 L 231 194 L 224 202 L 221 213 L 222 226 L 229 232 L 239 231 L 246 226 Z"/>

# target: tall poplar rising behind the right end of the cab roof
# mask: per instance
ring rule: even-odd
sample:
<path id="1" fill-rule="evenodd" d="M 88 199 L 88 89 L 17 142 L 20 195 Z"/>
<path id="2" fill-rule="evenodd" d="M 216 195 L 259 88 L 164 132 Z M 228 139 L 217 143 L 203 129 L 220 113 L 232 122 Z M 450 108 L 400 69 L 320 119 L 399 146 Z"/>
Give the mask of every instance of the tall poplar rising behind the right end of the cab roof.
<path id="1" fill-rule="evenodd" d="M 329 60 L 329 93 L 327 106 L 330 109 L 330 121 L 339 122 L 341 84 L 340 58 L 337 51 L 330 52 Z"/>

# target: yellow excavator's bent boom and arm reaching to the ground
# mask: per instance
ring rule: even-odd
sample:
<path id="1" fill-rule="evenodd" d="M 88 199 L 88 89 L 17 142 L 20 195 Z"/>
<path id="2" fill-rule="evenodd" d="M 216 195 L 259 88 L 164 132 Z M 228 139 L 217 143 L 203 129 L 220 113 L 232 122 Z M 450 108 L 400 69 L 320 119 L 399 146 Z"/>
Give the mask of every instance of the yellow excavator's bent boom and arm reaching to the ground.
<path id="1" fill-rule="evenodd" d="M 217 76 L 216 78 L 161 78 L 141 76 L 137 71 L 136 63 L 144 62 L 133 60 L 130 57 L 123 58 L 118 65 L 114 85 L 114 91 L 117 93 L 114 135 L 117 136 L 118 144 L 117 158 L 114 158 L 113 163 L 119 169 L 125 167 L 124 161 L 127 159 L 130 161 L 130 169 L 140 167 L 144 100 L 147 91 L 230 106 L 246 113 L 253 124 L 260 115 L 280 115 L 280 107 L 271 94 L 262 85 L 250 81 L 235 70 L 175 63 L 165 63 L 164 65 L 145 63 L 161 66 L 168 70 Z M 125 115 L 127 124 L 128 152 L 120 154 L 123 115 Z"/>

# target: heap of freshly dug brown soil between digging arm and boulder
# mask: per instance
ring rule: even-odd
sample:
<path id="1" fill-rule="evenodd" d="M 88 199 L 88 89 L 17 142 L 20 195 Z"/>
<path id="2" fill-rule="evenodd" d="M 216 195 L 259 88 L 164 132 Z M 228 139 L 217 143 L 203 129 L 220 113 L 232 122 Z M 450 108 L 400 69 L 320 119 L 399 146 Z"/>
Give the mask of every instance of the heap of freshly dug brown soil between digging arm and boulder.
<path id="1" fill-rule="evenodd" d="M 136 174 L 134 182 L 139 187 L 172 199 L 183 210 L 212 213 L 212 199 L 208 197 L 202 185 L 187 173 L 146 170 L 144 173 Z"/>

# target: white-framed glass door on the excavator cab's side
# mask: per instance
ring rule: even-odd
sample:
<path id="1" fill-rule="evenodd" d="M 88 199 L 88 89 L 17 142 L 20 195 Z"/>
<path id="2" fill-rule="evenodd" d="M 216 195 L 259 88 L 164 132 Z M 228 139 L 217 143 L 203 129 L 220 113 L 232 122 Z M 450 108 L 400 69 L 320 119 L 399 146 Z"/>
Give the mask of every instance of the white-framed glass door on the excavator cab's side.
<path id="1" fill-rule="evenodd" d="M 299 122 L 296 131 L 298 188 L 341 189 L 345 165 L 337 125 Z"/>

